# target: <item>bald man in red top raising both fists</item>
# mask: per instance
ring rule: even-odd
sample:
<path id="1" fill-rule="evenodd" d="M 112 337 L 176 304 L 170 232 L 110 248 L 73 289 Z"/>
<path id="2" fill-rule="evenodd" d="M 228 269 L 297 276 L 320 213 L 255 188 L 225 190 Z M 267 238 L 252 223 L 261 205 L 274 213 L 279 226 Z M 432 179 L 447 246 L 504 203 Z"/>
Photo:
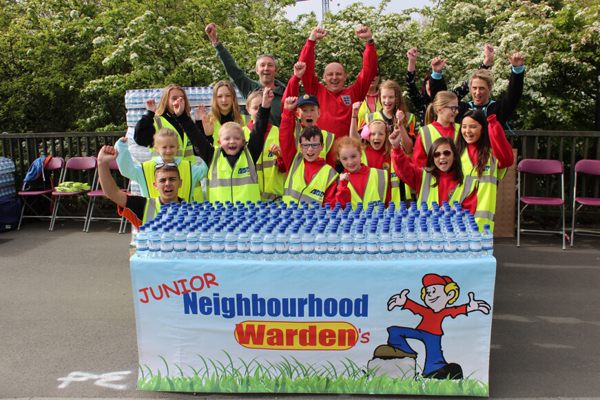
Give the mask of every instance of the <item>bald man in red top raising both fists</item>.
<path id="1" fill-rule="evenodd" d="M 302 76 L 304 92 L 316 96 L 321 108 L 319 126 L 321 129 L 332 132 L 336 138 L 348 136 L 352 118 L 352 104 L 364 101 L 369 85 L 377 73 L 377 53 L 373 44 L 373 34 L 366 26 L 356 30 L 356 36 L 364 39 L 365 49 L 362 57 L 362 71 L 358 74 L 356 82 L 349 87 L 344 87 L 348 74 L 339 63 L 331 63 L 325 67 L 323 81 L 319 83 L 315 74 L 315 43 L 327 36 L 323 28 L 315 28 L 311 32 L 307 44 L 302 48 L 298 61 L 306 63 L 307 69 Z M 284 97 L 285 100 L 285 97 Z"/>

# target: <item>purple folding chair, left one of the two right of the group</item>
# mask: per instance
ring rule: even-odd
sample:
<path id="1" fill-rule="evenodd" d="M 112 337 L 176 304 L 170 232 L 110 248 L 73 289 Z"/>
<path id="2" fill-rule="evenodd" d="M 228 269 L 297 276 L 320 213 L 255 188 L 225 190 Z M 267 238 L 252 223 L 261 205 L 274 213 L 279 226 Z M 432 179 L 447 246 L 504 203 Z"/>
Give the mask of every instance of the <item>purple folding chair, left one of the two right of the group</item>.
<path id="1" fill-rule="evenodd" d="M 535 197 L 521 196 L 521 173 L 531 173 L 533 175 L 561 175 L 561 197 Z M 525 182 L 525 177 L 523 178 Z M 557 160 L 530 160 L 525 159 L 519 162 L 517 166 L 517 196 L 519 197 L 519 215 L 517 217 L 517 247 L 521 246 L 521 232 L 539 232 L 539 233 L 561 233 L 563 235 L 563 250 L 565 247 L 565 168 L 563 163 Z M 525 203 L 521 209 L 521 202 Z M 562 231 L 540 231 L 532 229 L 521 229 L 521 214 L 528 205 L 555 206 L 560 207 L 563 218 Z"/>

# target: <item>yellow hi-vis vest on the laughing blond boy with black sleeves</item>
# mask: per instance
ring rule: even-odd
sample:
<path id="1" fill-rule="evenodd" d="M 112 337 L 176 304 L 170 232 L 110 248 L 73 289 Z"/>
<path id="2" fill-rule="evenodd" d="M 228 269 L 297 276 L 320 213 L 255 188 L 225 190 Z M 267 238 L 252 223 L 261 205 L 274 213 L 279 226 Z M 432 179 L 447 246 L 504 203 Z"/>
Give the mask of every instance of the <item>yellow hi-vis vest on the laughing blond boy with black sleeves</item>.
<path id="1" fill-rule="evenodd" d="M 207 177 L 207 197 L 210 202 L 240 200 L 245 203 L 247 200 L 251 202 L 260 200 L 256 169 L 246 145 L 242 148 L 242 154 L 233 168 L 223 156 L 223 148 L 215 147 Z"/>

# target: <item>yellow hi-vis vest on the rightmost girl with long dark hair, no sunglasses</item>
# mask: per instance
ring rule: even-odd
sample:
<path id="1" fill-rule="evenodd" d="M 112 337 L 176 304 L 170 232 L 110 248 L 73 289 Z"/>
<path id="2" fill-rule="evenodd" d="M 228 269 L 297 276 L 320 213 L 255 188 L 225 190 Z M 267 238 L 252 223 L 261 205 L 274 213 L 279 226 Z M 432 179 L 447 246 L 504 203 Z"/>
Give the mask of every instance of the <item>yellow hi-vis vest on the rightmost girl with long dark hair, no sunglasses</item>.
<path id="1" fill-rule="evenodd" d="M 498 181 L 504 178 L 506 168 L 498 168 L 498 160 L 491 152 L 486 168 L 480 177 L 477 176 L 477 169 L 470 160 L 467 149 L 462 152 L 460 161 L 464 176 L 470 176 L 477 180 L 477 210 L 475 210 L 477 227 L 479 227 L 479 231 L 483 231 L 484 224 L 490 224 L 490 231 L 493 232 Z"/>

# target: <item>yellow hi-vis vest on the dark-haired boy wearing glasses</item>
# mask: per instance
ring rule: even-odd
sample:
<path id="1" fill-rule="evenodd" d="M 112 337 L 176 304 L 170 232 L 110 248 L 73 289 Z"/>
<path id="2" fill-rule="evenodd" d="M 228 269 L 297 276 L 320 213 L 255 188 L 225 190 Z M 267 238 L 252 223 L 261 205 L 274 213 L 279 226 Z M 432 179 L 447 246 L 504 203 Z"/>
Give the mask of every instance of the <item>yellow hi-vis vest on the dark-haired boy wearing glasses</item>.
<path id="1" fill-rule="evenodd" d="M 302 200 L 307 203 L 317 200 L 322 205 L 325 191 L 336 179 L 338 179 L 338 173 L 325 163 L 310 182 L 304 180 L 304 158 L 302 153 L 298 153 L 287 172 L 283 201 L 290 204 L 291 200 L 298 203 Z"/>

